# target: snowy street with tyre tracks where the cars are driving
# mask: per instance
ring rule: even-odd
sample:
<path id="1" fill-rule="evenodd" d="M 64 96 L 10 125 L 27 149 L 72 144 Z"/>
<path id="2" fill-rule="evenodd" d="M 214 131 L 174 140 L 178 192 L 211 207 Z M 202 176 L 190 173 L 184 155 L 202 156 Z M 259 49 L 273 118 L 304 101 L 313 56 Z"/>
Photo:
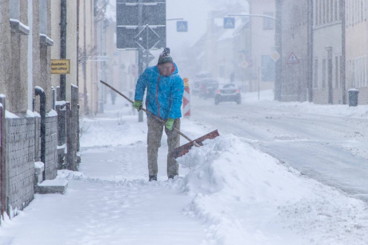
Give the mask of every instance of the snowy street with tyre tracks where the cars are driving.
<path id="1" fill-rule="evenodd" d="M 245 94 L 243 101 L 215 106 L 193 96 L 192 118 L 220 134 L 245 137 L 307 176 L 368 201 L 367 106 L 359 108 L 361 114 L 344 116 L 341 112 L 357 109 L 276 102 L 270 91 L 261 92 L 260 101 L 256 93 Z"/>

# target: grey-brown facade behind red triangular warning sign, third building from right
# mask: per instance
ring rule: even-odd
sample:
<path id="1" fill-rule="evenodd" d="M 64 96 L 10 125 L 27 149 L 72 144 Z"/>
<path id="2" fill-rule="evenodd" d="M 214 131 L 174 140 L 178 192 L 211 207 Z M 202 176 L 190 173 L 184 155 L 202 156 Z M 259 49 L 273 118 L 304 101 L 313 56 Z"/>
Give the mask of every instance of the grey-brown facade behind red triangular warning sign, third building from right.
<path id="1" fill-rule="evenodd" d="M 311 0 L 284 0 L 281 101 L 306 101 L 311 82 Z"/>

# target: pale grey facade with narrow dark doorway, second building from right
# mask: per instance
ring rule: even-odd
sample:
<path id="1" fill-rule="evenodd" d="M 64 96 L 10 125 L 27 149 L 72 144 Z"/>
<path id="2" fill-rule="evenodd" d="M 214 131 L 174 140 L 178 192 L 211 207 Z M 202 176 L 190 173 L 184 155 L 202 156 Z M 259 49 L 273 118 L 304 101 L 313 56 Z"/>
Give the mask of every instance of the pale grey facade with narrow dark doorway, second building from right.
<path id="1" fill-rule="evenodd" d="M 313 2 L 313 102 L 317 104 L 343 103 L 342 2 Z"/>

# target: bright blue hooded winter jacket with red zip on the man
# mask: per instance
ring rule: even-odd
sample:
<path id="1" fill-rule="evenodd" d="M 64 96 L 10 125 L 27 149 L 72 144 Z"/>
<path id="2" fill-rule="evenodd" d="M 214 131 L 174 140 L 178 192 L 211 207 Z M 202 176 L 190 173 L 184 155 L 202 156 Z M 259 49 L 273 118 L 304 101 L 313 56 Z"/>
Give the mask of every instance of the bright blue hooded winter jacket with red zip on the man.
<path id="1" fill-rule="evenodd" d="M 161 76 L 157 66 L 147 67 L 135 86 L 134 99 L 143 101 L 147 88 L 146 108 L 164 120 L 181 118 L 184 82 L 176 64 L 174 66 L 175 70 L 170 76 Z"/>

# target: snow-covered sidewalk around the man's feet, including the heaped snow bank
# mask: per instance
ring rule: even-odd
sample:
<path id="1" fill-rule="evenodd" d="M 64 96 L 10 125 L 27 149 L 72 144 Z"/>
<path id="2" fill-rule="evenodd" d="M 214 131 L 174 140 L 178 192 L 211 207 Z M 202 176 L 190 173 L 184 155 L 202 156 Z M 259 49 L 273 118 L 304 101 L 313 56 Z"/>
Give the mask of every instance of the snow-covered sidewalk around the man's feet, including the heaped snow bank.
<path id="1" fill-rule="evenodd" d="M 146 123 L 130 113 L 115 107 L 82 123 L 80 172 L 58 175 L 66 194 L 35 195 L 1 224 L 0 244 L 367 244 L 364 202 L 221 129 L 178 159 L 174 180 L 163 136 L 159 181 L 148 182 Z M 188 119 L 182 129 L 192 138 L 213 130 Z"/>

